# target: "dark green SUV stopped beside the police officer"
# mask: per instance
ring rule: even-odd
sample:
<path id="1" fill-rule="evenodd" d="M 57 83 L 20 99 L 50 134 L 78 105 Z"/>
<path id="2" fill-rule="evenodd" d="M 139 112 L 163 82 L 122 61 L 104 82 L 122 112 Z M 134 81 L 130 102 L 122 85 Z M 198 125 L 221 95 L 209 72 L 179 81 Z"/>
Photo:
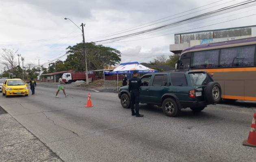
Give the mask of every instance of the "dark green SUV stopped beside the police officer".
<path id="1" fill-rule="evenodd" d="M 221 100 L 221 86 L 204 71 L 178 71 L 146 74 L 141 77 L 140 103 L 163 107 L 170 117 L 189 107 L 202 111 Z M 120 87 L 118 96 L 124 108 L 130 107 L 128 85 Z"/>

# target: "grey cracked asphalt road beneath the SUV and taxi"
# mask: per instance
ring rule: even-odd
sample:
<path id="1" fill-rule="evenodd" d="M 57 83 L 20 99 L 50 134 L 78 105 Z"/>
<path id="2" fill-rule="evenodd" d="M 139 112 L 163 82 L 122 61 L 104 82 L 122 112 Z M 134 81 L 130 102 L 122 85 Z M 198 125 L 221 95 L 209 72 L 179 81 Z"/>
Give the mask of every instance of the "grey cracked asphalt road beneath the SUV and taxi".
<path id="1" fill-rule="evenodd" d="M 28 97 L 5 98 L 0 105 L 65 162 L 255 162 L 245 147 L 256 103 L 210 105 L 201 113 L 183 109 L 167 117 L 142 105 L 144 117 L 123 109 L 116 93 L 36 88 Z M 1 137 L 0 137 L 1 138 Z"/>

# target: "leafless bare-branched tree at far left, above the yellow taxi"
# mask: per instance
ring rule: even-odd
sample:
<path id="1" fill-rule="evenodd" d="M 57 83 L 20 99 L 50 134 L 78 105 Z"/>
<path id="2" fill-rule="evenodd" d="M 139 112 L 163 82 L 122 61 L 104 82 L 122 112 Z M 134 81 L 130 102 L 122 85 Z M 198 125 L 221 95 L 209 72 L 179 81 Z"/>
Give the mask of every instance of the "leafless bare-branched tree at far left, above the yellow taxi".
<path id="1" fill-rule="evenodd" d="M 0 52 L 0 62 L 6 66 L 10 72 L 13 72 L 13 68 L 17 65 L 17 51 L 18 49 L 2 49 Z"/>

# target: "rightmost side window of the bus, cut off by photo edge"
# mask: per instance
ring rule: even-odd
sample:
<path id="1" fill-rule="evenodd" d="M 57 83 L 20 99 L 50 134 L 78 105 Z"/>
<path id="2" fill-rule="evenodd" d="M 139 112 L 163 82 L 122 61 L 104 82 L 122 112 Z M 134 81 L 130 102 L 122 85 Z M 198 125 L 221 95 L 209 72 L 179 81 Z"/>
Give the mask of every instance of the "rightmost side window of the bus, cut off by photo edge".
<path id="1" fill-rule="evenodd" d="M 221 49 L 220 66 L 254 66 L 255 46 Z"/>

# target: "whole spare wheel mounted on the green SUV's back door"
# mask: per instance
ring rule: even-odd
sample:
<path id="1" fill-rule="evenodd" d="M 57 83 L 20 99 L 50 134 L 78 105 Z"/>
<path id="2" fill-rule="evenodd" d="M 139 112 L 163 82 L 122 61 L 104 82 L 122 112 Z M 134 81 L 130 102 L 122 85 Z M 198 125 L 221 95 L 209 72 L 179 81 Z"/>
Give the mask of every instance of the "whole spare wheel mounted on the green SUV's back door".
<path id="1" fill-rule="evenodd" d="M 204 89 L 205 100 L 210 103 L 219 103 L 221 101 L 221 86 L 217 82 L 210 82 Z"/>

